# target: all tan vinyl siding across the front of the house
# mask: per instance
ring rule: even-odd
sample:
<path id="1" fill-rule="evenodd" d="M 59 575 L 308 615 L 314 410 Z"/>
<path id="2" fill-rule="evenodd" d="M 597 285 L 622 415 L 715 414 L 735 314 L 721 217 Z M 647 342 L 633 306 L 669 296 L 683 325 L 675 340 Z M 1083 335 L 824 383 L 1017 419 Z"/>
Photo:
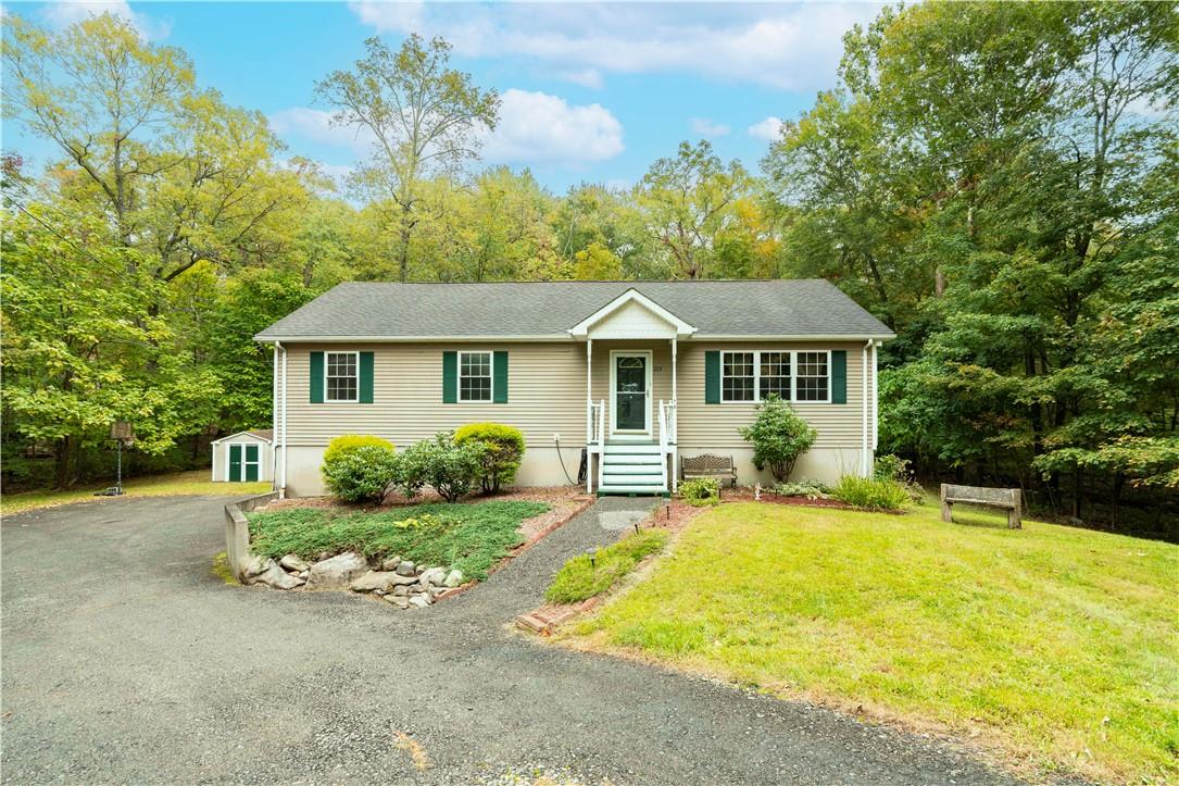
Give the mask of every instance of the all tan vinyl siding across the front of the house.
<path id="1" fill-rule="evenodd" d="M 396 445 L 407 445 L 437 431 L 480 420 L 520 428 L 533 448 L 551 447 L 553 434 L 561 434 L 565 447 L 585 445 L 586 347 L 582 342 L 288 345 L 286 349 L 290 387 L 286 430 L 291 446 L 324 446 L 343 433 L 377 434 Z M 374 353 L 373 404 L 310 404 L 310 353 L 332 349 Z M 508 352 L 508 402 L 442 404 L 442 353 L 477 349 Z M 657 439 L 658 402 L 672 398 L 670 342 L 594 341 L 593 399 L 606 401 L 607 428 L 612 406 L 611 349 L 652 352 L 651 426 L 652 438 Z M 863 345 L 693 340 L 680 341 L 678 352 L 680 446 L 693 450 L 747 447 L 737 430 L 752 420 L 755 405 L 704 404 L 704 353 L 709 349 L 845 349 L 848 402 L 798 404 L 795 408 L 818 430 L 816 448 L 861 447 Z"/>

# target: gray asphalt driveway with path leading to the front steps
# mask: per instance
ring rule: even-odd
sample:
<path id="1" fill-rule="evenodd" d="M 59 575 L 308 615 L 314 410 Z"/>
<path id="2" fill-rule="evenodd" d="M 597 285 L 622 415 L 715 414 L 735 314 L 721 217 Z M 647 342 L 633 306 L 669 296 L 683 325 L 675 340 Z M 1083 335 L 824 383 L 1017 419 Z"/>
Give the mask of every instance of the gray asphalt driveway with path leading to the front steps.
<path id="1" fill-rule="evenodd" d="M 646 502 L 599 503 L 486 585 L 408 611 L 224 584 L 210 570 L 223 503 L 5 517 L 6 782 L 1006 780 L 951 745 L 506 625 Z"/>

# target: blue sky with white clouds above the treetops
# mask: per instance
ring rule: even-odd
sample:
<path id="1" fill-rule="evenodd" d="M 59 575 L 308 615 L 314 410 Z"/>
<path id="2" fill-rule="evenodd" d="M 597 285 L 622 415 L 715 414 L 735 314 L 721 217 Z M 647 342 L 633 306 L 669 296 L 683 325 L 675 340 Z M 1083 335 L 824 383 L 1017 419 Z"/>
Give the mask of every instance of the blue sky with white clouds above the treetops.
<path id="1" fill-rule="evenodd" d="M 453 63 L 503 98 L 485 163 L 528 166 L 564 191 L 581 181 L 630 185 L 684 139 L 709 138 L 756 168 L 778 119 L 835 84 L 841 37 L 876 4 L 6 4 L 60 27 L 112 11 L 192 58 L 203 86 L 264 112 L 289 155 L 345 173 L 363 140 L 332 129 L 317 79 L 349 67 L 369 35 L 442 35 Z M 4 146 L 44 163 L 52 151 L 4 130 Z"/>

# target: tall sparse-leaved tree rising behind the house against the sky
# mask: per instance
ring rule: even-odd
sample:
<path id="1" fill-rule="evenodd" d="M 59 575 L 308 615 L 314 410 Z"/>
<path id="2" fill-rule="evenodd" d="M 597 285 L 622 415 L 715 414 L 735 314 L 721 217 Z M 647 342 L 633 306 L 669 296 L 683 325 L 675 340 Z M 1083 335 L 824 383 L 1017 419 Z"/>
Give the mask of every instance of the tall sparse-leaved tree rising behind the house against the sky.
<path id="1" fill-rule="evenodd" d="M 377 202 L 391 201 L 399 280 L 408 281 L 421 181 L 477 157 L 479 135 L 495 129 L 500 99 L 448 67 L 450 45 L 441 38 L 426 42 L 415 33 L 393 52 L 374 37 L 364 47 L 354 71 L 332 72 L 315 90 L 336 110 L 334 123 L 374 139 L 355 184 Z"/>

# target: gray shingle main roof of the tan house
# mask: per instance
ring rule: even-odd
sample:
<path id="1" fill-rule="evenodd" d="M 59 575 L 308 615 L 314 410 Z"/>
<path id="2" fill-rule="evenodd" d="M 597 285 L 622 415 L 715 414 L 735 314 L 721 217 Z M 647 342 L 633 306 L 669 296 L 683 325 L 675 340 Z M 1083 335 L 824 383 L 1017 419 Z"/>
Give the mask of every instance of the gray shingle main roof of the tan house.
<path id="1" fill-rule="evenodd" d="M 890 336 L 822 279 L 790 281 L 546 281 L 342 283 L 256 338 L 565 338 L 637 289 L 697 328 L 697 336 Z"/>

